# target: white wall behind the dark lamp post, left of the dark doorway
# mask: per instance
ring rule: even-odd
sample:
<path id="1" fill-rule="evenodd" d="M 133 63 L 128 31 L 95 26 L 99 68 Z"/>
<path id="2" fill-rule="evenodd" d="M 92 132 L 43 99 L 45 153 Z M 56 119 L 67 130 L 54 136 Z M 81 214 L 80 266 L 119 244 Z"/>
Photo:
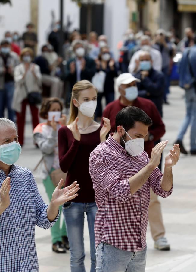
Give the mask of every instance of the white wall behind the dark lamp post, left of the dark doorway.
<path id="1" fill-rule="evenodd" d="M 40 48 L 47 40 L 47 35 L 51 31 L 51 11 L 54 11 L 55 21 L 60 18 L 59 0 L 39 0 L 38 15 L 38 47 Z M 76 3 L 71 0 L 64 0 L 64 24 L 67 24 L 67 15 L 70 15 L 70 21 L 73 24 L 70 30 L 79 28 L 80 10 Z"/>

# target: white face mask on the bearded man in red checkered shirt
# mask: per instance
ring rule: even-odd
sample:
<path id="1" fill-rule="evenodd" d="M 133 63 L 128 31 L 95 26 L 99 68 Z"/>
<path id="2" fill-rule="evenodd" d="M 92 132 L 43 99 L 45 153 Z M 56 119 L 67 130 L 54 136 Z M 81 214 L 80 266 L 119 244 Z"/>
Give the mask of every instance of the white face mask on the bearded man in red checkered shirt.
<path id="1" fill-rule="evenodd" d="M 122 127 L 123 128 L 123 127 Z M 124 128 L 123 128 L 124 129 Z M 126 132 L 126 130 L 124 129 Z M 126 132 L 126 134 L 129 136 L 129 134 Z M 137 156 L 138 154 L 142 153 L 144 151 L 144 139 L 142 138 L 137 138 L 137 139 L 132 139 L 130 136 L 129 138 L 131 140 L 125 142 L 123 137 L 123 141 L 125 143 L 125 150 L 133 157 Z"/>

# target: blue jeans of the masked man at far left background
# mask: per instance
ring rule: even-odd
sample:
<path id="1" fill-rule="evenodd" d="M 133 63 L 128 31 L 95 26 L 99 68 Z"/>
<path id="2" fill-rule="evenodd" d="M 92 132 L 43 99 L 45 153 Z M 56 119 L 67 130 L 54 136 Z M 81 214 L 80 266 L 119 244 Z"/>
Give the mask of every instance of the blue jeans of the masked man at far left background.
<path id="1" fill-rule="evenodd" d="M 14 82 L 10 81 L 4 84 L 4 89 L 0 90 L 0 118 L 4 117 L 5 108 L 8 109 L 8 118 L 15 122 L 15 112 L 11 108 L 14 95 Z"/>

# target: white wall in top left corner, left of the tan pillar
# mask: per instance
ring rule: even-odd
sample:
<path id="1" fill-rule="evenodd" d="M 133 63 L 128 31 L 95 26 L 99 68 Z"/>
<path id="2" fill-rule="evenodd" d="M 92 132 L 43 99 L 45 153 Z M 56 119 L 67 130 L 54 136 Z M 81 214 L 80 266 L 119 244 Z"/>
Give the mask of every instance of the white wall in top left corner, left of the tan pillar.
<path id="1" fill-rule="evenodd" d="M 18 31 L 22 34 L 26 24 L 30 21 L 30 1 L 12 0 L 9 4 L 0 5 L 0 40 L 5 31 Z"/>

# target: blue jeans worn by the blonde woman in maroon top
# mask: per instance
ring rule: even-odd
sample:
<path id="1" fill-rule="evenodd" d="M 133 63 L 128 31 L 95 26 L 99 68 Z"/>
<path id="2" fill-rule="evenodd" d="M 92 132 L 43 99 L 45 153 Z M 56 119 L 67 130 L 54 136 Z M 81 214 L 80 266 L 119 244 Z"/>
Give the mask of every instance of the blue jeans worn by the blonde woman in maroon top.
<path id="1" fill-rule="evenodd" d="M 84 216 L 85 212 L 88 220 L 89 236 L 90 236 L 90 254 L 91 254 L 91 270 L 95 272 L 95 232 L 94 223 L 97 206 L 92 203 L 75 203 L 71 202 L 63 205 L 63 214 L 65 218 L 67 236 L 70 243 L 70 265 L 71 272 L 85 272 L 84 267 Z M 66 207 L 67 206 L 67 207 Z"/>

